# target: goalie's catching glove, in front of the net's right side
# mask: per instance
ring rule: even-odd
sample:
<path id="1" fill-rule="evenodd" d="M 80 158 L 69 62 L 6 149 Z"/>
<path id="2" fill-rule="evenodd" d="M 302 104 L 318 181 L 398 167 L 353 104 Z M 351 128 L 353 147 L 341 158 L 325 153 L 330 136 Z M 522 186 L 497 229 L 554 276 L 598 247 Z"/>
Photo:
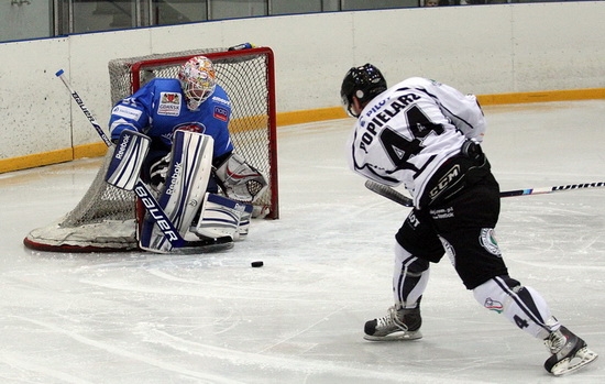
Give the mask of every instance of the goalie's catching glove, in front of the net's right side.
<path id="1" fill-rule="evenodd" d="M 266 177 L 237 154 L 229 156 L 216 171 L 227 197 L 253 202 L 268 187 Z"/>

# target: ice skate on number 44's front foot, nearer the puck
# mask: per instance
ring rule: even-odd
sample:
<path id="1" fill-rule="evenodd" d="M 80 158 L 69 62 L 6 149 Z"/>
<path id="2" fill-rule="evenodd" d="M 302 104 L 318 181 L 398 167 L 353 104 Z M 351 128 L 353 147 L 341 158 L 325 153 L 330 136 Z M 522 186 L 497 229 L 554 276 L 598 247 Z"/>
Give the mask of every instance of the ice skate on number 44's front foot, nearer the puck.
<path id="1" fill-rule="evenodd" d="M 386 316 L 365 323 L 364 339 L 372 341 L 416 340 L 422 337 L 420 308 L 388 308 Z"/>

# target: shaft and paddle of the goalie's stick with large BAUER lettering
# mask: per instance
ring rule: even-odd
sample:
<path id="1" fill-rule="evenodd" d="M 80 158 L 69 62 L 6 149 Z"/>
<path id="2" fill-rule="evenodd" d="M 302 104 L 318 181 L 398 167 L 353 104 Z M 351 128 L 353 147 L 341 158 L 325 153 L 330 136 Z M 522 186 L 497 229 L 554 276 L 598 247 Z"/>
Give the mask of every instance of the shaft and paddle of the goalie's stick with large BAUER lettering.
<path id="1" fill-rule="evenodd" d="M 85 106 L 84 100 L 80 98 L 78 92 L 76 92 L 74 88 L 72 88 L 72 85 L 69 84 L 69 81 L 67 81 L 64 74 L 65 72 L 63 69 L 59 69 L 55 75 L 63 81 L 65 87 L 69 90 L 69 92 L 72 94 L 72 97 L 74 98 L 74 100 L 76 100 L 76 103 L 78 105 L 78 107 L 80 107 L 81 111 L 84 112 L 84 114 L 86 116 L 90 124 L 95 127 L 95 130 L 97 131 L 99 136 L 101 136 L 106 145 L 108 147 L 111 147 L 111 145 L 113 145 L 111 143 L 111 140 L 109 140 L 107 134 L 105 134 L 101 125 L 99 125 L 99 123 L 97 122 L 92 113 L 90 113 L 90 110 L 88 110 L 88 108 Z M 168 217 L 166 216 L 166 213 L 164 212 L 164 210 L 162 209 L 157 200 L 151 194 L 147 186 L 143 182 L 141 182 L 141 179 L 136 180 L 136 184 L 134 185 L 134 193 L 136 194 L 136 196 L 139 196 L 139 198 L 143 202 L 143 206 L 145 207 L 147 212 L 155 220 L 155 222 L 157 223 L 157 227 L 160 228 L 162 233 L 164 233 L 164 235 L 166 237 L 166 240 L 168 240 L 170 244 L 175 248 L 183 246 L 185 244 L 185 240 L 178 233 L 178 230 L 174 227 L 170 219 L 168 219 Z"/>

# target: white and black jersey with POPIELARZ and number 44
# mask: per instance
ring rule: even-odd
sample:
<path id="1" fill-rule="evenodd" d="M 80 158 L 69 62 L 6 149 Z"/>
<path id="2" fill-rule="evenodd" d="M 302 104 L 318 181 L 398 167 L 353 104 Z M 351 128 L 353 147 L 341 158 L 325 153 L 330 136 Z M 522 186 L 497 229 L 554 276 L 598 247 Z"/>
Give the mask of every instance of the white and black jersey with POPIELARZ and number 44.
<path id="1" fill-rule="evenodd" d="M 349 166 L 382 184 L 403 183 L 419 207 L 437 169 L 468 139 L 481 143 L 484 132 L 474 95 L 411 77 L 365 106 L 346 144 Z"/>

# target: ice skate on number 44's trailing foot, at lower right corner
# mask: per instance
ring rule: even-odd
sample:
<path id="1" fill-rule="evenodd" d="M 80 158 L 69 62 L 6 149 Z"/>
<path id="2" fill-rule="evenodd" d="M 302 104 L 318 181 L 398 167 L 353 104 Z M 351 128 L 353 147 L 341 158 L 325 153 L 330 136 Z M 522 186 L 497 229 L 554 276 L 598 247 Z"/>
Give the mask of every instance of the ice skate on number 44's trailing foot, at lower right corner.
<path id="1" fill-rule="evenodd" d="M 584 340 L 562 326 L 544 339 L 544 344 L 552 353 L 544 362 L 544 369 L 556 376 L 581 369 L 598 358 L 598 354 L 588 349 Z"/>

